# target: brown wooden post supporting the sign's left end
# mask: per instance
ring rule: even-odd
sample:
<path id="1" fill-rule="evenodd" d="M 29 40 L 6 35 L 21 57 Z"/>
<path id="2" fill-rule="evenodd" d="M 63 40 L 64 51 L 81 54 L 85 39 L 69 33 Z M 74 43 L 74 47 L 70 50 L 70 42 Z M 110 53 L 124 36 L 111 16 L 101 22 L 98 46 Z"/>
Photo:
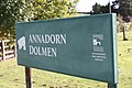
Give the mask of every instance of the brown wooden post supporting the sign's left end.
<path id="1" fill-rule="evenodd" d="M 30 67 L 25 67 L 25 81 L 26 81 L 26 88 L 33 88 Z"/>

